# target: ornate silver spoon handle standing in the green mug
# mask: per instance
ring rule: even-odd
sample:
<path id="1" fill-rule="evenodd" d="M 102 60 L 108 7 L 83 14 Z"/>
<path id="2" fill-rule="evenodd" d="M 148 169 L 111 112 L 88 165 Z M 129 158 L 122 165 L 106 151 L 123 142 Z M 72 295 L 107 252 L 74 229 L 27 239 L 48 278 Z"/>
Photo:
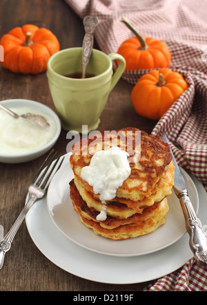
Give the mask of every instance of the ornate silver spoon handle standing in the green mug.
<path id="1" fill-rule="evenodd" d="M 82 65 L 83 65 L 83 70 L 82 70 L 82 77 L 86 77 L 86 69 L 88 66 L 88 62 L 90 59 L 90 55 L 92 52 L 92 47 L 93 47 L 93 33 L 95 31 L 95 28 L 99 22 L 99 19 L 97 17 L 91 17 L 91 16 L 86 16 L 83 19 L 83 26 L 85 29 L 85 36 L 83 38 L 83 53 L 82 53 Z"/>

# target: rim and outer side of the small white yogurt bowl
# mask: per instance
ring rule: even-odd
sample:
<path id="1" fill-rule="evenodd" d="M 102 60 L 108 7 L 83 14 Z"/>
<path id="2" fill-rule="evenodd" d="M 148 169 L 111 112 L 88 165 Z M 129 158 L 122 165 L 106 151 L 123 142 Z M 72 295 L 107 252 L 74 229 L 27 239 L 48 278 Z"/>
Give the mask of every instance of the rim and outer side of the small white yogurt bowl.
<path id="1" fill-rule="evenodd" d="M 10 154 L 1 154 L 0 153 L 0 162 L 1 163 L 28 162 L 30 160 L 34 160 L 35 158 L 38 158 L 39 156 L 42 156 L 55 145 L 55 142 L 57 142 L 57 139 L 59 138 L 59 134 L 61 133 L 61 123 L 60 123 L 59 117 L 57 116 L 57 114 L 54 111 L 52 111 L 52 109 L 50 109 L 49 107 L 47 107 L 44 104 L 35 102 L 33 100 L 13 99 L 13 100 L 3 100 L 3 101 L 1 101 L 1 103 L 8 108 L 29 107 L 31 109 L 34 109 L 35 111 L 41 111 L 43 113 L 46 113 L 47 115 L 50 115 L 50 117 L 53 118 L 53 120 L 55 120 L 55 123 L 57 126 L 57 131 L 55 133 L 55 136 L 46 145 L 39 147 L 38 149 L 35 149 L 33 151 L 26 152 L 24 154 L 10 155 Z M 0 143 L 0 145 L 1 145 L 1 143 Z"/>

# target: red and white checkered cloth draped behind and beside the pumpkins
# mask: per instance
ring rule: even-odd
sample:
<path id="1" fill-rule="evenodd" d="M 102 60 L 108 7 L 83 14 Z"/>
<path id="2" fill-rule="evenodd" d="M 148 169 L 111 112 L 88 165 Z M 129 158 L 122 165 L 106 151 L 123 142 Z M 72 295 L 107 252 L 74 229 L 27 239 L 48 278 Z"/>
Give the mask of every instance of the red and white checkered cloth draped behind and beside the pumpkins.
<path id="1" fill-rule="evenodd" d="M 66 0 L 66 2 L 81 18 L 86 15 L 99 18 L 95 38 L 99 48 L 107 54 L 116 53 L 124 40 L 134 36 L 126 25 L 120 22 L 121 17 L 126 17 L 141 35 L 166 42 L 172 56 L 170 68 L 181 73 L 189 86 L 157 122 L 152 133 L 166 131 L 177 163 L 181 167 L 190 169 L 207 190 L 206 1 Z M 139 77 L 148 71 L 126 71 L 123 78 L 131 84 L 136 84 Z M 191 268 L 199 268 L 199 272 L 206 279 L 202 290 L 207 290 L 207 270 L 197 266 L 193 260 L 187 264 L 188 266 L 190 264 Z M 190 273 L 188 275 L 190 276 Z M 168 277 L 164 281 L 167 279 Z M 172 281 L 174 279 L 175 275 Z M 172 286 L 170 285 L 171 288 Z"/>

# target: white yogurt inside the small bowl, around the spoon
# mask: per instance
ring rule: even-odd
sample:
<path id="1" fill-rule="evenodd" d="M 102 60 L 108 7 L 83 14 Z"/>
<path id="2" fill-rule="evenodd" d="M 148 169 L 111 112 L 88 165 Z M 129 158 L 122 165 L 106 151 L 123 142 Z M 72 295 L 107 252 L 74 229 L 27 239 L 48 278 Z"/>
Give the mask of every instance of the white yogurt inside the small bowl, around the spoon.
<path id="1" fill-rule="evenodd" d="M 46 145 L 57 131 L 55 120 L 50 115 L 31 109 L 30 107 L 11 107 L 19 115 L 34 113 L 43 115 L 50 127 L 41 129 L 25 118 L 12 118 L 11 115 L 0 110 L 0 154 L 24 154 Z"/>

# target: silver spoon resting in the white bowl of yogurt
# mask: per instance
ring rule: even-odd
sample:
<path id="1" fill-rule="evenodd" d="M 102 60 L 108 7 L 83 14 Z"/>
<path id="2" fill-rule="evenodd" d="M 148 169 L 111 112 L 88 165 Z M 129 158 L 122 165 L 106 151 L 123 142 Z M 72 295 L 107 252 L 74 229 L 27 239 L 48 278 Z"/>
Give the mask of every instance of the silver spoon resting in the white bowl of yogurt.
<path id="1" fill-rule="evenodd" d="M 3 104 L 0 103 L 0 108 L 6 111 L 8 114 L 12 115 L 13 118 L 25 118 L 26 120 L 30 120 L 30 122 L 34 122 L 38 127 L 41 129 L 46 129 L 50 126 L 50 124 L 46 121 L 46 118 L 44 118 L 42 115 L 36 115 L 33 113 L 25 113 L 25 114 L 17 114 L 13 112 L 12 110 L 8 109 L 6 106 L 3 106 Z"/>

